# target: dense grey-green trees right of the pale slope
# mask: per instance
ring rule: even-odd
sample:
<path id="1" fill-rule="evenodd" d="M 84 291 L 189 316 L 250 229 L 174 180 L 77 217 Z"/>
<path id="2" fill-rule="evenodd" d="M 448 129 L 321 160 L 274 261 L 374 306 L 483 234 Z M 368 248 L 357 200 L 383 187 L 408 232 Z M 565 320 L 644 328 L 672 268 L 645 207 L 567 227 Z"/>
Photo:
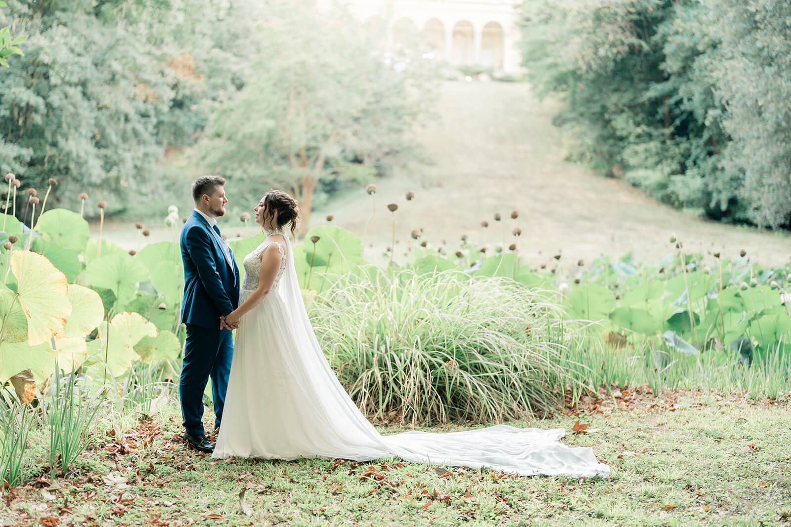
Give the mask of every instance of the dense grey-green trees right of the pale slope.
<path id="1" fill-rule="evenodd" d="M 539 95 L 568 103 L 557 122 L 570 157 L 670 205 L 778 228 L 791 215 L 782 9 L 527 2 L 524 57 Z"/>

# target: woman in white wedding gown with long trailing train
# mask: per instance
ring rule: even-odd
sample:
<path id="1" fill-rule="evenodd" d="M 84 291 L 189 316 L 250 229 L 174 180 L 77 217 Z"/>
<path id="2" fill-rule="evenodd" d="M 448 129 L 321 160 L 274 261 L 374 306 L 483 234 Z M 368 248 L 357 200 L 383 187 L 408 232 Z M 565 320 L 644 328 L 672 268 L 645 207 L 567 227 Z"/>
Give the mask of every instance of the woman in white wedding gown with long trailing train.
<path id="1" fill-rule="evenodd" d="M 284 230 L 293 237 L 298 215 L 297 202 L 278 190 L 255 207 L 267 239 L 244 258 L 240 305 L 224 319 L 239 327 L 212 457 L 400 457 L 526 476 L 609 475 L 592 449 L 560 444 L 562 428 L 380 435 L 343 390 L 308 320 Z"/>

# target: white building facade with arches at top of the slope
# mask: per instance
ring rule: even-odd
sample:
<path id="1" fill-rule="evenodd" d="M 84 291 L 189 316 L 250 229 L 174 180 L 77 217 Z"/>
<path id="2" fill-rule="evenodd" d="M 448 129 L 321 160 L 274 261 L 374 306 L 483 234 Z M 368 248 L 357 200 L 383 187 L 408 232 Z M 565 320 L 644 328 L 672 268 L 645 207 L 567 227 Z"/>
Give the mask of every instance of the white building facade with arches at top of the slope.
<path id="1" fill-rule="evenodd" d="M 386 21 L 392 43 L 422 32 L 434 55 L 452 64 L 520 70 L 520 0 L 319 0 L 332 2 L 346 3 L 362 21 Z"/>

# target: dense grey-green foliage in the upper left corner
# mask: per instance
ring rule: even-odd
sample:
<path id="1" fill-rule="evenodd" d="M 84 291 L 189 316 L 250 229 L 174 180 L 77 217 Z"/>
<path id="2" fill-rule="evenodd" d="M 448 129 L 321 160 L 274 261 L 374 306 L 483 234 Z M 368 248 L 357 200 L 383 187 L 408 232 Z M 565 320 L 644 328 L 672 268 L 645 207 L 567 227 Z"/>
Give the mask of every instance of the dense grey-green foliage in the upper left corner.
<path id="1" fill-rule="evenodd" d="M 118 211 L 166 190 L 158 161 L 205 126 L 200 101 L 238 67 L 227 39 L 249 28 L 244 6 L 216 3 L 9 0 L 30 37 L 0 80 L 0 170 L 34 188 L 58 179 L 61 205 L 86 191 Z"/>

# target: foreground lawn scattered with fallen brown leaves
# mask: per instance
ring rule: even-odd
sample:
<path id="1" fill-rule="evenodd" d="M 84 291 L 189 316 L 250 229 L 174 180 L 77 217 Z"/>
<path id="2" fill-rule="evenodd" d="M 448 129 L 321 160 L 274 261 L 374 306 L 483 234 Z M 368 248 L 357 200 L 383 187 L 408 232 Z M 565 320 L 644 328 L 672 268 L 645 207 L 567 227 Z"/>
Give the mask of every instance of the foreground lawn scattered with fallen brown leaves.
<path id="1" fill-rule="evenodd" d="M 563 442 L 592 446 L 611 465 L 609 479 L 517 477 L 398 460 L 217 461 L 180 442 L 172 401 L 126 431 L 104 423 L 70 477 L 44 474 L 6 490 L 0 525 L 789 523 L 789 401 L 647 391 L 618 391 L 584 401 L 585 410 L 515 423 L 566 428 Z M 588 433 L 571 432 L 577 420 L 589 423 Z M 245 487 L 250 516 L 238 496 Z"/>

